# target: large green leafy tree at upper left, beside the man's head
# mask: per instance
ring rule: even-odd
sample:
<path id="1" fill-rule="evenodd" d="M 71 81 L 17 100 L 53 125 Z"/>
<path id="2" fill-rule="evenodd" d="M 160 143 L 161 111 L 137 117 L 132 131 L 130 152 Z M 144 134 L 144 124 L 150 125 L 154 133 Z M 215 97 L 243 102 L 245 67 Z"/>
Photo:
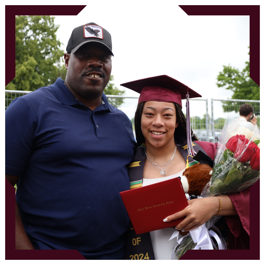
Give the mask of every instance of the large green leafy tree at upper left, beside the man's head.
<path id="1" fill-rule="evenodd" d="M 6 89 L 33 91 L 51 85 L 60 73 L 64 76 L 58 28 L 54 17 L 16 16 L 16 77 Z"/>

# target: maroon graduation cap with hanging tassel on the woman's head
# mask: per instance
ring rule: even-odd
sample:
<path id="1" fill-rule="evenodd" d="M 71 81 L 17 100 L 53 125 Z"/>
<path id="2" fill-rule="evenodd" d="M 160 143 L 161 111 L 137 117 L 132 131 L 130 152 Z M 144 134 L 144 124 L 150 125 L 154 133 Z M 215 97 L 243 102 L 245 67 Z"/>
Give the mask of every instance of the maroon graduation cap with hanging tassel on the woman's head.
<path id="1" fill-rule="evenodd" d="M 186 103 L 186 129 L 188 154 L 194 156 L 196 152 L 191 142 L 191 125 L 189 118 L 189 98 L 201 97 L 196 91 L 167 76 L 154 76 L 121 84 L 135 92 L 140 93 L 138 104 L 143 101 L 175 102 L 182 107 L 181 100 L 187 99 Z"/>

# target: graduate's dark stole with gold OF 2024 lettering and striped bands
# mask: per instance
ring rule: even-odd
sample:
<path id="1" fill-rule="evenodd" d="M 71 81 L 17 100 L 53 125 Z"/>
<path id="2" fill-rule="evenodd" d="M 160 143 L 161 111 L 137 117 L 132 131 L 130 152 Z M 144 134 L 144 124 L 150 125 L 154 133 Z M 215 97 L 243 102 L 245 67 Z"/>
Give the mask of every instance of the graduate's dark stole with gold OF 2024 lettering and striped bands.
<path id="1" fill-rule="evenodd" d="M 175 137 L 175 143 L 177 145 L 178 150 L 182 154 L 184 160 L 186 161 L 188 156 L 187 139 L 181 137 Z M 198 153 L 198 151 L 201 150 L 206 154 L 206 152 L 196 142 L 193 141 L 192 145 L 196 153 Z M 132 161 L 127 166 L 128 175 L 130 177 L 130 189 L 142 187 L 144 162 L 145 162 L 144 149 L 145 149 L 145 144 L 141 144 L 136 149 Z M 189 166 L 193 166 L 199 163 L 198 161 L 194 160 L 191 156 L 188 157 L 188 162 Z M 154 259 L 154 251 L 153 251 L 150 233 L 148 232 L 136 235 L 131 223 L 127 237 L 126 259 L 133 259 L 133 260 Z"/>

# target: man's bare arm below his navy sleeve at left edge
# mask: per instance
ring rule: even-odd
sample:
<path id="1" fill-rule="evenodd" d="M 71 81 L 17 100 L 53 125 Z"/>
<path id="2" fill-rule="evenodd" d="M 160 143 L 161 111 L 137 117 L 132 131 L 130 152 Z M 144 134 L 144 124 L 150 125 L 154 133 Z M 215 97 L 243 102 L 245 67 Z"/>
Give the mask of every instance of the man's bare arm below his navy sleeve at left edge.
<path id="1" fill-rule="evenodd" d="M 13 185 L 20 177 L 6 174 L 6 179 Z M 34 249 L 24 229 L 16 202 L 16 249 Z"/>

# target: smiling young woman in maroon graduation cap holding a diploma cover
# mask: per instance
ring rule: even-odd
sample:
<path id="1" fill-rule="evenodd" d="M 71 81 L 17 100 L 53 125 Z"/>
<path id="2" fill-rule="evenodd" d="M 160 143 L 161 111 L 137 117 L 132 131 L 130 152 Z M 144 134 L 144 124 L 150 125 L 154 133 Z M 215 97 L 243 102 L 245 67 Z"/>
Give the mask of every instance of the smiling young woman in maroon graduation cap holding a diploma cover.
<path id="1" fill-rule="evenodd" d="M 128 167 L 131 188 L 182 176 L 186 168 L 187 146 L 185 148 L 185 145 L 187 145 L 187 131 L 181 98 L 185 97 L 186 92 L 184 90 L 187 91 L 187 86 L 167 76 L 147 78 L 122 85 L 135 91 L 137 90 L 137 92 L 139 92 L 139 87 L 141 89 L 134 119 L 138 148 L 131 161 L 131 164 L 139 162 L 139 167 Z M 194 96 L 192 96 L 192 93 Z M 190 97 L 200 96 L 191 89 L 189 89 L 189 94 Z M 192 131 L 191 135 L 193 135 L 192 145 L 195 151 L 202 150 L 214 159 L 216 145 L 198 141 Z M 190 165 L 193 162 L 195 161 L 189 159 Z M 182 233 L 197 228 L 207 222 L 212 216 L 218 214 L 220 206 L 218 198 L 222 201 L 220 215 L 227 217 L 236 216 L 238 211 L 244 206 L 240 202 L 236 209 L 234 204 L 240 201 L 242 196 L 240 193 L 237 193 L 234 197 L 232 196 L 232 198 L 229 196 L 222 195 L 188 200 L 189 206 L 178 213 L 166 217 L 164 222 L 170 222 L 186 216 L 176 226 L 176 229 Z M 244 196 L 243 201 L 247 203 L 248 200 L 248 196 Z M 241 216 L 241 222 L 242 217 L 247 219 L 247 214 Z M 238 220 L 238 217 L 236 220 Z M 247 231 L 248 228 L 244 227 L 244 229 Z M 152 244 L 155 259 L 171 259 L 172 249 L 176 245 L 176 238 L 169 241 L 173 232 L 174 228 L 152 231 L 150 232 L 151 242 L 148 242 L 148 237 L 145 237 L 145 242 L 143 240 L 141 243 L 142 245 Z M 128 240 L 128 242 L 130 241 Z M 127 254 L 130 254 L 130 251 L 130 246 L 127 245 Z"/>

